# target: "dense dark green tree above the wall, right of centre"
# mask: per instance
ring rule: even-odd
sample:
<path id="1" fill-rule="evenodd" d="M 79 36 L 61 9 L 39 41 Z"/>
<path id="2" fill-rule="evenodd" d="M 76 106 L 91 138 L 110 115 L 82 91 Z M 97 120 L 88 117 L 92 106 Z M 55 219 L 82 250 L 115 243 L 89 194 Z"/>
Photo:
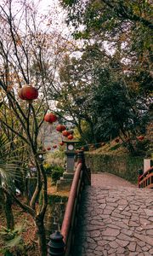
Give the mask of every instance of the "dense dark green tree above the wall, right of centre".
<path id="1" fill-rule="evenodd" d="M 99 69 L 97 73 L 97 88 L 94 90 L 93 86 L 90 97 L 91 108 L 98 117 L 95 124 L 97 137 L 110 140 L 121 135 L 123 142 L 127 137 L 135 140 L 137 134 L 145 132 L 148 122 L 146 100 L 135 96 L 125 80 L 115 77 L 109 69 Z M 132 154 L 136 153 L 133 143 L 126 143 L 126 146 Z"/>

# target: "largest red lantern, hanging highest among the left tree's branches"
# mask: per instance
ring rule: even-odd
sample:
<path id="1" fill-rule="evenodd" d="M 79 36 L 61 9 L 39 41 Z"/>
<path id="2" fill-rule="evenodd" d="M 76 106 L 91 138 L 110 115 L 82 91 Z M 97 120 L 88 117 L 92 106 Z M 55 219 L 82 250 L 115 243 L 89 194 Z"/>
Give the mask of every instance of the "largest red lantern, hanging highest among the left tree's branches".
<path id="1" fill-rule="evenodd" d="M 38 90 L 31 85 L 25 85 L 19 90 L 19 96 L 20 99 L 25 101 L 36 100 L 38 97 Z"/>

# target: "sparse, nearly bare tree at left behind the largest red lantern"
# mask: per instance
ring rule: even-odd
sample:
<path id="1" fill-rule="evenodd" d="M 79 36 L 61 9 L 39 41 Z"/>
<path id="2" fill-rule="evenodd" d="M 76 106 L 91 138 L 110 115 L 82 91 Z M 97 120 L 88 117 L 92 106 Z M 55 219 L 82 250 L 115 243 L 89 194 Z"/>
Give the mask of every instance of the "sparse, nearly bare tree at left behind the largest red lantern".
<path id="1" fill-rule="evenodd" d="M 17 9 L 14 9 L 14 3 Z M 39 131 L 45 113 L 52 107 L 52 95 L 58 90 L 54 79 L 67 40 L 54 32 L 53 27 L 51 29 L 50 14 L 40 16 L 32 2 L 1 1 L 0 19 L 1 129 L 11 148 L 16 149 L 19 145 L 23 148 L 23 163 L 28 164 L 31 158 L 37 170 L 37 186 L 28 204 L 11 193 L 8 186 L 5 186 L 5 193 L 31 214 L 37 227 L 39 251 L 45 256 L 47 246 L 43 219 L 48 197 L 47 177 L 39 157 L 42 154 Z M 24 85 L 33 85 L 39 91 L 37 101 L 20 99 L 18 93 Z M 51 92 L 49 99 L 48 90 Z M 42 203 L 37 206 L 40 196 Z"/>

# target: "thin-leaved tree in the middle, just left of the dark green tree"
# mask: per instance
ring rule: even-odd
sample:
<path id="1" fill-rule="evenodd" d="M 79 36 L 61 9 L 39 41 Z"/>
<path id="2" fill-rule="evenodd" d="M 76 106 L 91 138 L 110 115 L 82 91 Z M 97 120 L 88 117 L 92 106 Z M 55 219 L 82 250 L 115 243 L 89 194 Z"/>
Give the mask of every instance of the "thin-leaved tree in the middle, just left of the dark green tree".
<path id="1" fill-rule="evenodd" d="M 92 47 L 94 52 L 94 46 Z M 60 87 L 58 94 L 55 94 L 57 108 L 60 114 L 67 117 L 73 125 L 77 126 L 82 138 L 82 120 L 85 120 L 89 127 L 90 139 L 96 143 L 94 124 L 96 116 L 90 111 L 90 103 L 87 101 L 90 87 L 94 83 L 94 55 L 91 49 L 80 58 L 65 56 L 65 61 L 59 66 Z M 84 137 L 88 143 L 88 138 Z"/>

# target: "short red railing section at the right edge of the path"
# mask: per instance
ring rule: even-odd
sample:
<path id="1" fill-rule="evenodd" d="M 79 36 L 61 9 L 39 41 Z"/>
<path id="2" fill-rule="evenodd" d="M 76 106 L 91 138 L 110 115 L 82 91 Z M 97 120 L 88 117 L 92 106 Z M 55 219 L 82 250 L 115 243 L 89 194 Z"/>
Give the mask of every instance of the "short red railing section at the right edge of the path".
<path id="1" fill-rule="evenodd" d="M 153 166 L 138 177 L 139 188 L 153 189 Z"/>

